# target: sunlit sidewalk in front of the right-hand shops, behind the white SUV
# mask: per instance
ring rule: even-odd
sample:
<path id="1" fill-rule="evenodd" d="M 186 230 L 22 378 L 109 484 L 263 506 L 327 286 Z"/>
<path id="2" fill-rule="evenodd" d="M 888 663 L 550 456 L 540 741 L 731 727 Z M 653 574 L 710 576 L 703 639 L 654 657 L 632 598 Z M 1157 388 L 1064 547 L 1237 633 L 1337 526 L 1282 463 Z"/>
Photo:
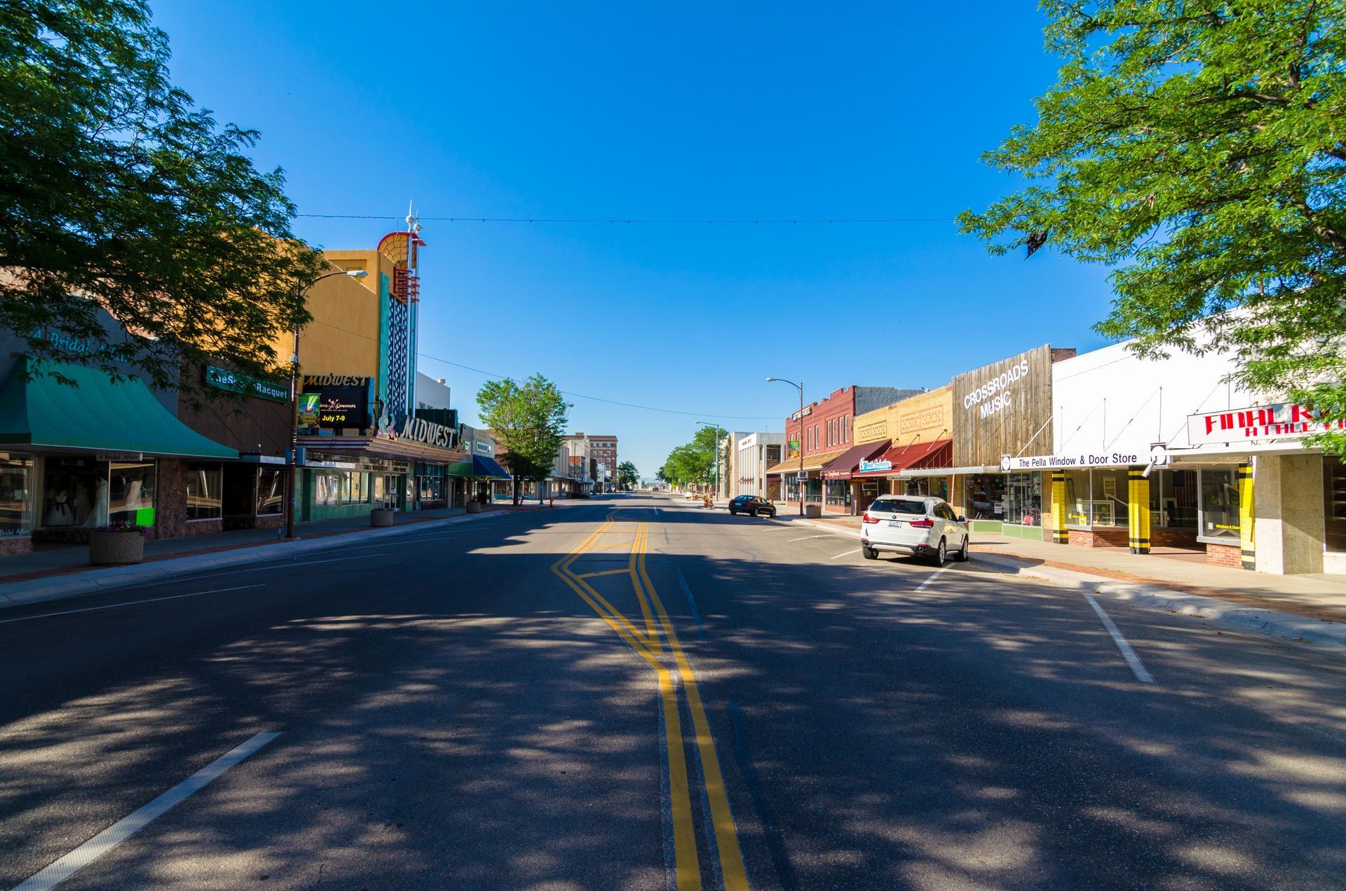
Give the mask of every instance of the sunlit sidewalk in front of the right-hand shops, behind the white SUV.
<path id="1" fill-rule="evenodd" d="M 860 529 L 860 517 L 824 514 L 802 522 L 839 532 Z M 1055 545 L 984 532 L 972 533 L 972 553 L 984 563 L 1057 584 L 1172 612 L 1237 619 L 1228 625 L 1241 630 L 1346 646 L 1346 579 L 1341 576 L 1277 576 L 1210 565 L 1178 550 L 1133 555 L 1120 548 Z"/>

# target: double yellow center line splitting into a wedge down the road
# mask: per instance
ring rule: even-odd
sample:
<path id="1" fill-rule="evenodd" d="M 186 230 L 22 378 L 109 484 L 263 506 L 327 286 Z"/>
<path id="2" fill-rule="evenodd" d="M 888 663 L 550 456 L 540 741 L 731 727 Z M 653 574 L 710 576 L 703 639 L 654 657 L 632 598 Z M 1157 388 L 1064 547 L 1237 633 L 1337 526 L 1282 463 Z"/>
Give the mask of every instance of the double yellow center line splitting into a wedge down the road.
<path id="1" fill-rule="evenodd" d="M 603 536 L 607 534 L 631 536 L 631 526 L 634 526 L 634 538 L 614 544 L 603 542 Z M 677 685 L 673 682 L 674 669 L 677 678 L 681 681 L 682 690 L 686 693 L 688 711 L 692 713 L 695 751 L 701 762 L 701 774 L 705 778 L 705 797 L 709 802 L 715 847 L 719 852 L 720 875 L 724 878 L 725 891 L 748 891 L 743 851 L 739 848 L 739 836 L 734 828 L 734 813 L 730 810 L 730 799 L 724 790 L 724 775 L 720 773 L 720 759 L 715 754 L 715 738 L 711 736 L 711 723 L 705 717 L 705 707 L 701 704 L 701 694 L 697 690 L 696 674 L 692 672 L 692 664 L 688 661 L 686 653 L 684 653 L 682 645 L 678 642 L 677 631 L 673 629 L 668 610 L 664 608 L 664 602 L 660 600 L 658 591 L 654 588 L 654 583 L 650 581 L 650 573 L 645 568 L 647 540 L 647 524 L 618 524 L 608 520 L 580 542 L 575 550 L 557 560 L 552 565 L 552 572 L 560 576 L 658 676 L 660 696 L 664 700 L 664 732 L 668 746 L 670 810 L 673 816 L 674 872 L 678 891 L 699 891 L 701 888 L 701 867 L 696 851 L 692 789 L 688 782 L 686 748 L 682 742 Z M 607 569 L 603 572 L 575 572 L 572 569 L 575 561 L 591 550 L 622 546 L 631 549 L 630 560 L 625 569 Z M 590 579 L 621 575 L 630 579 L 631 588 L 635 592 L 637 603 L 641 607 L 639 623 L 626 618 L 590 583 Z M 658 615 L 657 622 L 656 615 Z M 665 665 L 664 641 L 668 642 L 668 654 L 672 655 L 673 668 Z"/>

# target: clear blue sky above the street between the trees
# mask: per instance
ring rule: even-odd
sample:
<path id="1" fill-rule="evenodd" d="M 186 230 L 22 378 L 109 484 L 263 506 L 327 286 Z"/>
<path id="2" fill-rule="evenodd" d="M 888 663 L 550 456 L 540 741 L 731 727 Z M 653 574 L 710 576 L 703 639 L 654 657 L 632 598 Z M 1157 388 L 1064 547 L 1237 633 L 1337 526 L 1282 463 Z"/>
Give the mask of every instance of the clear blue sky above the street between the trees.
<path id="1" fill-rule="evenodd" d="M 423 217 L 952 218 L 1014 187 L 980 153 L 1051 83 L 1030 3 L 159 0 L 175 81 L 261 131 L 318 246 Z M 398 17 L 390 17 L 392 15 Z M 541 371 L 572 429 L 653 475 L 696 420 L 781 429 L 847 384 L 941 386 L 1102 345 L 1105 272 L 995 258 L 952 222 L 424 222 L 424 354 Z M 483 377 L 429 358 L 464 420 Z M 746 416 L 739 420 L 712 415 Z M 751 420 L 751 417 L 770 420 Z"/>

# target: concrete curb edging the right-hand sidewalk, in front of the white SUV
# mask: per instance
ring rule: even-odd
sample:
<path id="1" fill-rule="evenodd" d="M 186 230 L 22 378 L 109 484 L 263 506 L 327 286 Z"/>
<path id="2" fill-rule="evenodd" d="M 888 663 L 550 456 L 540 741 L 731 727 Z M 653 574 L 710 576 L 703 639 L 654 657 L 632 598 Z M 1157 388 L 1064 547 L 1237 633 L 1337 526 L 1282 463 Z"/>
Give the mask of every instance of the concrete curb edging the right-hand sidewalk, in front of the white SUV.
<path id="1" fill-rule="evenodd" d="M 1116 579 L 1074 572 L 1071 569 L 1035 567 L 1014 560 L 1012 557 L 973 552 L 972 560 L 1012 569 L 1015 575 L 1026 579 L 1039 579 L 1065 588 L 1074 588 L 1082 594 L 1104 595 L 1136 607 L 1189 615 L 1202 619 L 1213 627 L 1245 634 L 1261 634 L 1298 643 L 1312 643 L 1346 655 L 1346 625 L 1338 622 L 1306 619 L 1294 612 L 1245 607 L 1215 598 L 1182 594 L 1180 591 L 1136 584 L 1133 581 L 1117 581 Z"/>

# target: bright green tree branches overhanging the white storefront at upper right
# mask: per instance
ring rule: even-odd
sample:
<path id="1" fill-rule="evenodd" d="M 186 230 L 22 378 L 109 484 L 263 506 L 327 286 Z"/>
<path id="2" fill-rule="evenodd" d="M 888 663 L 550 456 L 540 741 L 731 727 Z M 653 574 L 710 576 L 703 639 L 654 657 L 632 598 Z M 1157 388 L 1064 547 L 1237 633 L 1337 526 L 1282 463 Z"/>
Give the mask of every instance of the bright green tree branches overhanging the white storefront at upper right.
<path id="1" fill-rule="evenodd" d="M 1027 184 L 962 230 L 1109 265 L 1100 332 L 1346 417 L 1346 3 L 1042 5 L 1057 83 L 985 155 Z"/>

